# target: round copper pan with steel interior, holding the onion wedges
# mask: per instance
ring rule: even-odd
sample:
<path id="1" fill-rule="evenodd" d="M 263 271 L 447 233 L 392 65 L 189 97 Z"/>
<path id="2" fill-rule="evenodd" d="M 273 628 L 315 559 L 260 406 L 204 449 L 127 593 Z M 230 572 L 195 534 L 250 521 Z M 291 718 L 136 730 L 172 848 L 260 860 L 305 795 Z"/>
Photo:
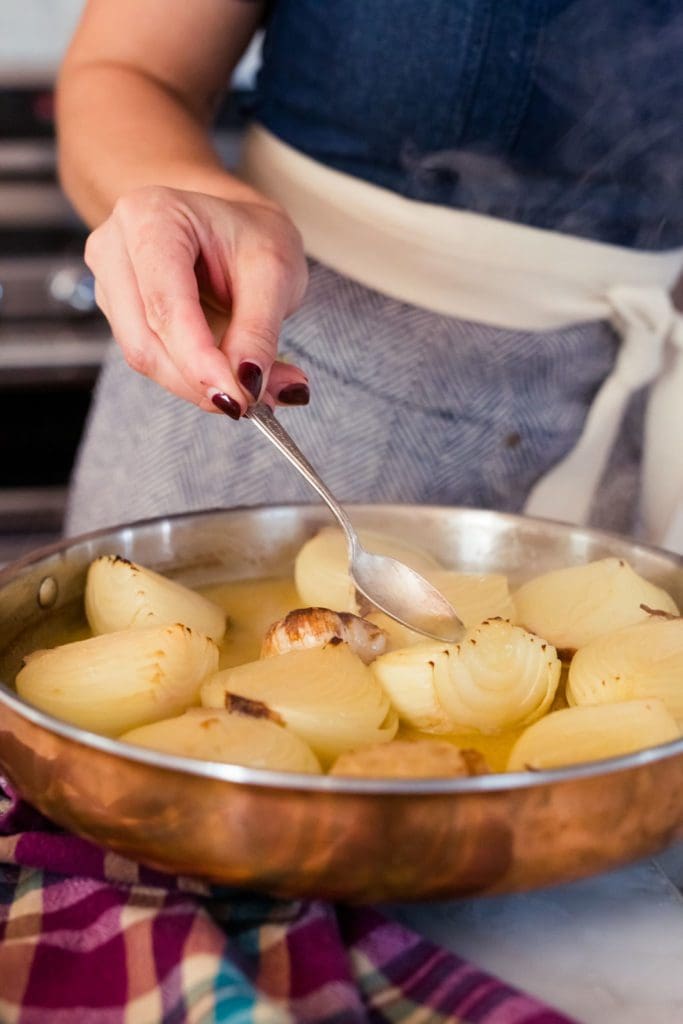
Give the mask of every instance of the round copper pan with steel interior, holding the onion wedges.
<path id="1" fill-rule="evenodd" d="M 683 604 L 683 559 L 589 529 L 424 506 L 357 506 L 358 525 L 445 564 L 505 572 L 616 555 Z M 55 616 L 82 617 L 89 561 L 118 552 L 189 584 L 286 572 L 329 515 L 236 509 L 103 530 L 0 573 L 0 768 L 58 824 L 168 871 L 285 896 L 411 900 L 514 892 L 596 873 L 683 833 L 683 740 L 575 768 L 468 779 L 356 780 L 173 758 L 20 700 L 11 680 Z"/>

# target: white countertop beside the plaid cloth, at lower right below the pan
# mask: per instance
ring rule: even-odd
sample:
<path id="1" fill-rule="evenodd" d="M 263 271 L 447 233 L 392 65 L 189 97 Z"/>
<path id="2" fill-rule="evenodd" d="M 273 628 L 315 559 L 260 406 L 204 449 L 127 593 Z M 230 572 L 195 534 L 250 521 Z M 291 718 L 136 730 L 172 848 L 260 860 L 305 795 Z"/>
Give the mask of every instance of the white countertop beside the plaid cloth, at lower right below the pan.
<path id="1" fill-rule="evenodd" d="M 683 846 L 515 896 L 384 907 L 581 1024 L 683 1022 Z"/>

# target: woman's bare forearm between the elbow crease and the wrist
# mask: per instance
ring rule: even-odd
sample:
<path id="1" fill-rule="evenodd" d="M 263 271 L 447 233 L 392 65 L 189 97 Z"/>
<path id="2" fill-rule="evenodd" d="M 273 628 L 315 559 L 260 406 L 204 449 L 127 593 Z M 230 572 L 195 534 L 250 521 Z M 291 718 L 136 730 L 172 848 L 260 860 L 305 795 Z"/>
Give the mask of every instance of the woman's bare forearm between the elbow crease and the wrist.
<path id="1" fill-rule="evenodd" d="M 120 196 L 143 185 L 260 200 L 221 166 L 210 111 L 190 109 L 163 82 L 125 63 L 67 63 L 57 124 L 61 181 L 91 226 Z"/>

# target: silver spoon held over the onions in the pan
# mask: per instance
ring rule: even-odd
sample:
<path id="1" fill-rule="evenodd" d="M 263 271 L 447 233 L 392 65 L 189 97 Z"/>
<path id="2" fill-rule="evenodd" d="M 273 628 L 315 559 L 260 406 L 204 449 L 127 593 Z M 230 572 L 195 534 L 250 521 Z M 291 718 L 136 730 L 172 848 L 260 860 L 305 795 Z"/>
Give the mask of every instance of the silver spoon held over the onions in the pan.
<path id="1" fill-rule="evenodd" d="M 402 626 L 434 640 L 449 643 L 460 640 L 465 627 L 435 587 L 397 559 L 373 555 L 365 550 L 346 512 L 268 406 L 257 402 L 249 408 L 245 417 L 289 459 L 336 516 L 346 536 L 351 579 L 360 593 L 380 611 Z"/>

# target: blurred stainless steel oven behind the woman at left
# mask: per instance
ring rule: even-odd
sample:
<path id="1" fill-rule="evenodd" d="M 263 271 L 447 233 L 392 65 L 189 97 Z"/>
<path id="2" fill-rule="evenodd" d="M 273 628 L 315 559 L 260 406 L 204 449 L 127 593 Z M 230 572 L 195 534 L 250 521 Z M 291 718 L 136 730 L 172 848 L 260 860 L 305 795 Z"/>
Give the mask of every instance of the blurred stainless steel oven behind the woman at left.
<path id="1" fill-rule="evenodd" d="M 0 562 L 58 536 L 109 333 L 59 189 L 48 86 L 0 90 Z"/>

